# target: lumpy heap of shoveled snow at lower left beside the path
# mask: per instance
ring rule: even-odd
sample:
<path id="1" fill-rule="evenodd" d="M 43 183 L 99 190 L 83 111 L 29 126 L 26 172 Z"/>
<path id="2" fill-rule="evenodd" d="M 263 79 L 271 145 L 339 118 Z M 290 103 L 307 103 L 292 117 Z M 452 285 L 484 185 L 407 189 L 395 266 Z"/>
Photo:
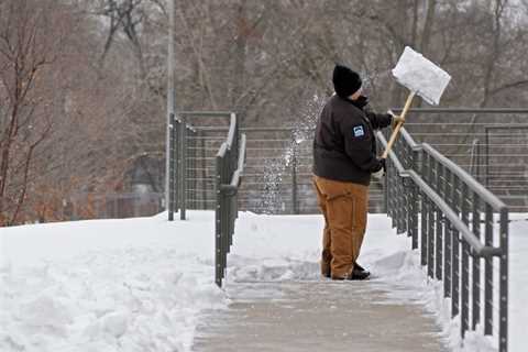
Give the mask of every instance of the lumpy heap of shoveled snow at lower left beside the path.
<path id="1" fill-rule="evenodd" d="M 194 275 L 199 266 L 174 250 L 114 250 L 8 267 L 0 279 L 0 350 L 182 351 L 193 341 L 197 314 L 223 302 L 212 270 Z"/>

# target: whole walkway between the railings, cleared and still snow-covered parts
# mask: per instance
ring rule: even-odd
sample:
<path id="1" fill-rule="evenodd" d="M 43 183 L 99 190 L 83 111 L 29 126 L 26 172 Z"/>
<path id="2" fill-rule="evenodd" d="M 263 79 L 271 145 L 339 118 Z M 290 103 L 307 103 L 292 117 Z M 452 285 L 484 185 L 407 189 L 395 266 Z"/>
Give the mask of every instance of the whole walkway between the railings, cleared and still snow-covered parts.
<path id="1" fill-rule="evenodd" d="M 369 282 L 320 278 L 320 217 L 274 220 L 239 220 L 229 307 L 201 320 L 194 351 L 450 351 L 433 286 L 386 216 L 369 218 L 360 256 Z"/>

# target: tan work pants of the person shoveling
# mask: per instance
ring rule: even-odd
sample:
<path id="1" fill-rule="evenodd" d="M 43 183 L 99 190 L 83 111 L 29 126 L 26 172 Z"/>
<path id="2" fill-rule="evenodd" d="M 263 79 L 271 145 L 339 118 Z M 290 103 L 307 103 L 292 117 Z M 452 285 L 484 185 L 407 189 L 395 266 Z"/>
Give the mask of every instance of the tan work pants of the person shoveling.
<path id="1" fill-rule="evenodd" d="M 321 273 L 351 275 L 366 229 L 369 186 L 314 176 L 317 200 L 324 216 Z"/>

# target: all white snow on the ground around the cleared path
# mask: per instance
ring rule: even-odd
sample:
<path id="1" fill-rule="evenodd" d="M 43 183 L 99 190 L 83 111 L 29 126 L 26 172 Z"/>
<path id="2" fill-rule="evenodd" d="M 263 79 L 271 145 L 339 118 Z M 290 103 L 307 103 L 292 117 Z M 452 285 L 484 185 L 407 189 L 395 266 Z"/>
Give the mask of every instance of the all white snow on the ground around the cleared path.
<path id="1" fill-rule="evenodd" d="M 510 351 L 526 351 L 528 215 L 512 216 Z M 241 213 L 228 285 L 319 279 L 320 216 Z M 224 309 L 213 284 L 213 213 L 189 212 L 0 229 L 0 351 L 189 351 L 207 309 Z M 441 285 L 426 284 L 409 240 L 370 216 L 361 263 L 374 279 L 406 285 L 438 312 L 459 349 Z M 409 290 L 406 290 L 409 292 Z M 406 299 L 395 290 L 394 299 Z M 481 336 L 464 351 L 486 351 Z"/>

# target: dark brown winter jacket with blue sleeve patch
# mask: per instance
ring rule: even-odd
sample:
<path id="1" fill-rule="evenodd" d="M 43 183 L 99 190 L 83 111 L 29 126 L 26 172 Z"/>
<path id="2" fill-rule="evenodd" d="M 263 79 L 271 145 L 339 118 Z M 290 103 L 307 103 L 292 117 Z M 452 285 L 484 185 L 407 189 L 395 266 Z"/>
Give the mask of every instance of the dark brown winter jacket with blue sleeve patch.
<path id="1" fill-rule="evenodd" d="M 356 101 L 334 95 L 317 121 L 314 140 L 314 174 L 329 179 L 369 185 L 380 170 L 374 130 L 391 124 L 391 114 L 365 109 L 367 99 Z"/>

